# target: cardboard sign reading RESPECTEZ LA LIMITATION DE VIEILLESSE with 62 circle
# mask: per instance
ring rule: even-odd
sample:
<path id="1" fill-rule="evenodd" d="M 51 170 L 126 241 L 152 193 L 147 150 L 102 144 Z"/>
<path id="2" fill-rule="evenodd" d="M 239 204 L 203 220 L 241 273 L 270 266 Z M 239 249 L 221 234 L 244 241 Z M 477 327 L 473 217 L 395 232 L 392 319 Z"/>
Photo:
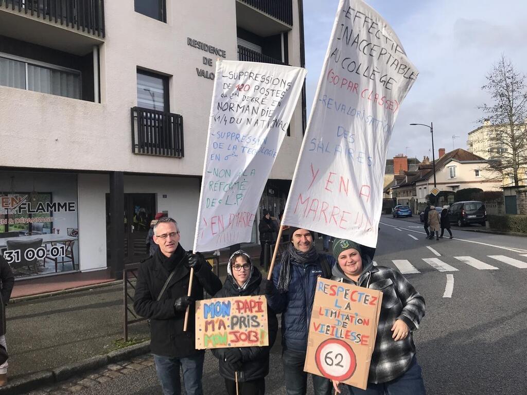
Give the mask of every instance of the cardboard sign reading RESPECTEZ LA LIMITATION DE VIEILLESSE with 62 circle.
<path id="1" fill-rule="evenodd" d="M 383 293 L 319 278 L 304 370 L 366 389 Z"/>

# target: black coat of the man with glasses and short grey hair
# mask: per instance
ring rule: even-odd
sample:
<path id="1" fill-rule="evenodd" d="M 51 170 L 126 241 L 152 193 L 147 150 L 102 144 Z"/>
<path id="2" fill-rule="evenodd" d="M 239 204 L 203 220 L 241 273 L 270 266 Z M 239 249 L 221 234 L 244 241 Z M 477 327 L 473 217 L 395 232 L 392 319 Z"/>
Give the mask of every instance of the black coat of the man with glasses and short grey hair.
<path id="1" fill-rule="evenodd" d="M 141 317 L 150 319 L 150 350 L 153 354 L 183 358 L 202 352 L 194 345 L 194 328 L 196 315 L 194 305 L 190 306 L 187 331 L 183 332 L 185 321 L 184 311 L 174 311 L 175 299 L 186 296 L 189 287 L 190 270 L 184 264 L 188 255 L 184 254 L 181 244 L 178 244 L 175 254 L 183 258 L 176 264 L 176 271 L 161 300 L 157 298 L 170 273 L 163 267 L 158 254 L 154 254 L 139 265 L 139 275 L 135 288 L 134 309 Z M 199 271 L 194 271 L 192 296 L 196 300 L 203 299 L 203 289 L 213 295 L 221 289 L 221 281 L 212 273 L 207 263 L 201 265 Z"/>

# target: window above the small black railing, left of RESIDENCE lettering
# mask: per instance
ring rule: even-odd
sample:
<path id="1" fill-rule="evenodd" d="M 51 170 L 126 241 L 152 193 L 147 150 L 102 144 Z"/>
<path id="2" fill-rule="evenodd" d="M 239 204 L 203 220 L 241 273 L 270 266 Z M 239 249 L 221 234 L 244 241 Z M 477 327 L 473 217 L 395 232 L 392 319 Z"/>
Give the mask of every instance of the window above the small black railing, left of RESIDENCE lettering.
<path id="1" fill-rule="evenodd" d="M 169 112 L 168 77 L 137 72 L 137 105 L 149 110 Z"/>

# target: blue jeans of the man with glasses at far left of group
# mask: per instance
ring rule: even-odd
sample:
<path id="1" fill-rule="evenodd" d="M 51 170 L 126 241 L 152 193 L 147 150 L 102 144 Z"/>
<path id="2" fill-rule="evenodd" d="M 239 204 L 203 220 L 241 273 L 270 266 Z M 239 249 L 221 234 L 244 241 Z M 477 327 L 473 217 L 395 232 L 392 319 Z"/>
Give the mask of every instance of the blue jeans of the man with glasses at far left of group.
<path id="1" fill-rule="evenodd" d="M 183 371 L 183 384 L 187 395 L 203 395 L 201 377 L 203 376 L 204 352 L 192 357 L 172 358 L 154 354 L 155 370 L 164 395 L 181 395 L 179 369 Z"/>

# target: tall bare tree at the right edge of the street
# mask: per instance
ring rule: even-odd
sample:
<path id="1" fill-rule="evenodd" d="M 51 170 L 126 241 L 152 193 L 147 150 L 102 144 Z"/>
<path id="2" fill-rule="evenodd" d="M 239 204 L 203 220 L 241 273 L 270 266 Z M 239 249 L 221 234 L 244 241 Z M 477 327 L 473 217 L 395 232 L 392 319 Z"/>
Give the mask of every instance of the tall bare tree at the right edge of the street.
<path id="1" fill-rule="evenodd" d="M 527 87 L 525 75 L 516 71 L 502 56 L 486 75 L 482 90 L 493 103 L 479 106 L 489 124 L 489 165 L 496 178 L 511 180 L 509 185 L 525 185 L 527 176 Z"/>

